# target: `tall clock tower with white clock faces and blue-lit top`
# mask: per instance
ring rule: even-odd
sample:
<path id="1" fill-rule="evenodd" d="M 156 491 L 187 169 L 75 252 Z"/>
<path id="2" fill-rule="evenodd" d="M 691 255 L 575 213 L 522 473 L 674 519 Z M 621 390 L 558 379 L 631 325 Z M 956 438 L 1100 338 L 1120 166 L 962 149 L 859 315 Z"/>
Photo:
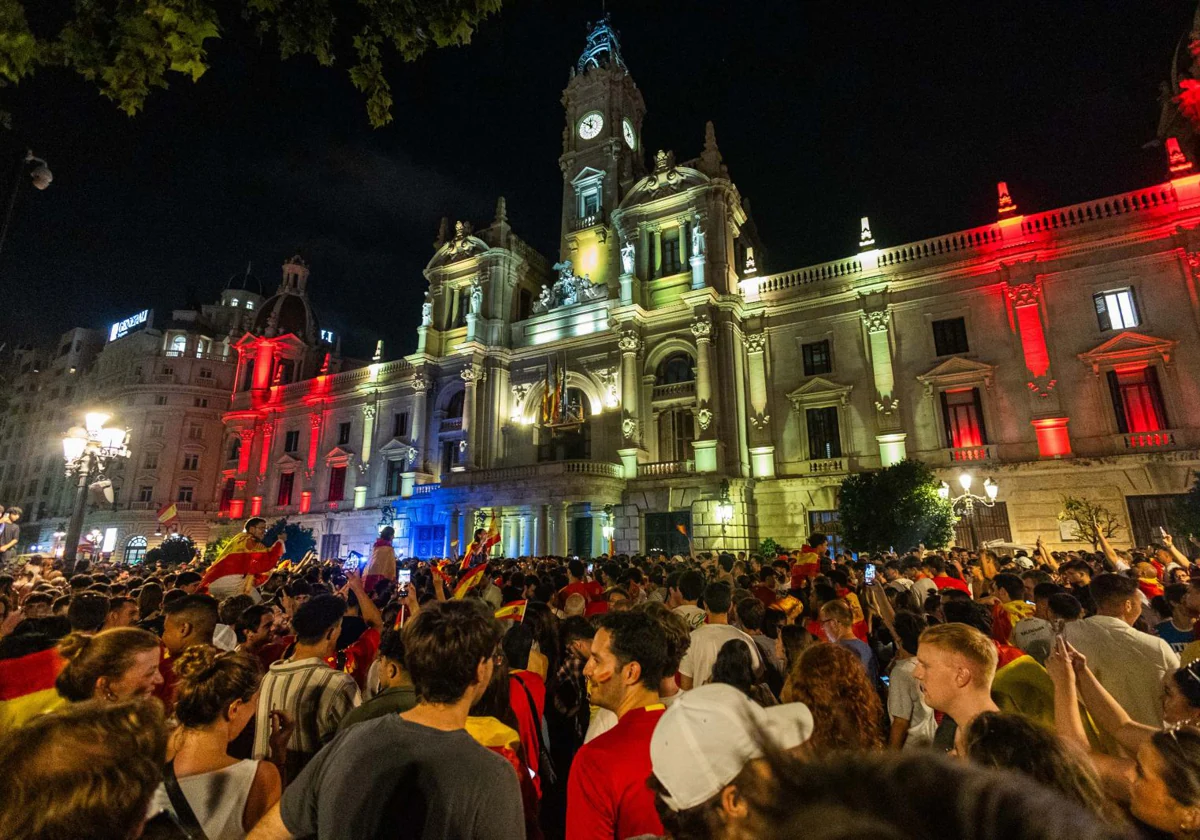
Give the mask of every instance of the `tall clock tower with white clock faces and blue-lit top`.
<path id="1" fill-rule="evenodd" d="M 620 242 L 612 211 L 646 174 L 646 103 L 620 55 L 606 14 L 593 25 L 563 91 L 563 230 L 560 259 L 575 274 L 617 288 Z"/>

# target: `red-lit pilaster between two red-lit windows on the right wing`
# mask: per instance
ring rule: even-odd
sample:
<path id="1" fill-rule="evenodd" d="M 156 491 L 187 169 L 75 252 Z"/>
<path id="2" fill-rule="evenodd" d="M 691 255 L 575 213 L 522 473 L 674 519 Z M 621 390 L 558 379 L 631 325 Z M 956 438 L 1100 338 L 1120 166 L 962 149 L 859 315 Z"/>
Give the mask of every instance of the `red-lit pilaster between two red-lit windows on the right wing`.
<path id="1" fill-rule="evenodd" d="M 1025 368 L 1030 374 L 1026 385 L 1032 401 L 1033 432 L 1038 440 L 1038 455 L 1043 458 L 1061 458 L 1070 455 L 1070 434 L 1067 432 L 1069 418 L 1062 410 L 1057 382 L 1050 370 L 1050 350 L 1046 348 L 1045 328 L 1042 322 L 1038 283 L 1009 283 L 1008 300 L 1013 311 L 1009 323 L 1021 342 Z"/>

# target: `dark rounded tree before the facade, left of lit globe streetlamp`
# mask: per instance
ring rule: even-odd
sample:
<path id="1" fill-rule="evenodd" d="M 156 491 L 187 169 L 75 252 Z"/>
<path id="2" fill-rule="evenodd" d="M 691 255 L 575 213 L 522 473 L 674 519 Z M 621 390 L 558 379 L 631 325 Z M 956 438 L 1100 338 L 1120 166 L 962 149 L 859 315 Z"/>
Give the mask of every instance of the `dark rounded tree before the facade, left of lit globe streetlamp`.
<path id="1" fill-rule="evenodd" d="M 950 503 L 937 494 L 938 486 L 934 470 L 919 461 L 847 476 L 838 504 L 846 546 L 880 552 L 947 545 L 955 517 Z"/>

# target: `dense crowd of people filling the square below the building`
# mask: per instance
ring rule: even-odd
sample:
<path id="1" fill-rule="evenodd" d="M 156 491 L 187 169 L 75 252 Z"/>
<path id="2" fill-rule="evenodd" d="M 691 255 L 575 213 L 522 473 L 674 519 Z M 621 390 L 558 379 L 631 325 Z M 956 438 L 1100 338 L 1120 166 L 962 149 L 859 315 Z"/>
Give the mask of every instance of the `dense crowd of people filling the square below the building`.
<path id="1" fill-rule="evenodd" d="M 0 836 L 1200 838 L 1200 575 L 1145 550 L 0 575 Z M 4 532 L 0 528 L 0 538 Z"/>

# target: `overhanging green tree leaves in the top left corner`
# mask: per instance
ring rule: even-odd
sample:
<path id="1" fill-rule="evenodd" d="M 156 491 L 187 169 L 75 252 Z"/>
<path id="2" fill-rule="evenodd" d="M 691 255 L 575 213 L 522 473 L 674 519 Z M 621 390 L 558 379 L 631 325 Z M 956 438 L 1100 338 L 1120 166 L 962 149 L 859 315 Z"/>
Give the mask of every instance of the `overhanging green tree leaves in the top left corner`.
<path id="1" fill-rule="evenodd" d="M 308 55 L 328 67 L 353 54 L 350 82 L 380 127 L 392 120 L 385 50 L 413 61 L 430 48 L 469 43 L 502 0 L 74 0 L 65 23 L 47 32 L 30 26 L 25 2 L 0 0 L 0 86 L 40 66 L 67 67 L 132 116 L 172 74 L 199 79 L 206 44 L 241 14 L 259 40 L 275 41 L 281 59 Z"/>

